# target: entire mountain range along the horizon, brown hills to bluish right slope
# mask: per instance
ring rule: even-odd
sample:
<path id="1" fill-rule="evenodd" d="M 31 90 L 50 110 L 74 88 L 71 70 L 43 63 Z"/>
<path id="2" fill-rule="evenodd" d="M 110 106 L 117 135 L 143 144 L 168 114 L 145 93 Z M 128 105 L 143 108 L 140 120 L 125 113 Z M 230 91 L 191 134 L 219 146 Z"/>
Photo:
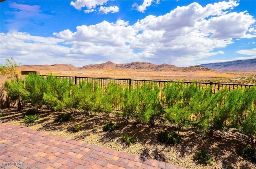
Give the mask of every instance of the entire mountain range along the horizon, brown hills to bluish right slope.
<path id="1" fill-rule="evenodd" d="M 101 64 L 75 67 L 74 65 L 54 64 L 54 65 L 22 65 L 18 70 L 24 71 L 114 71 L 114 70 L 134 70 L 134 71 L 256 71 L 256 59 L 237 60 L 219 63 L 208 63 L 190 67 L 176 67 L 174 65 L 155 65 L 146 62 L 132 62 L 116 64 L 106 62 Z"/>

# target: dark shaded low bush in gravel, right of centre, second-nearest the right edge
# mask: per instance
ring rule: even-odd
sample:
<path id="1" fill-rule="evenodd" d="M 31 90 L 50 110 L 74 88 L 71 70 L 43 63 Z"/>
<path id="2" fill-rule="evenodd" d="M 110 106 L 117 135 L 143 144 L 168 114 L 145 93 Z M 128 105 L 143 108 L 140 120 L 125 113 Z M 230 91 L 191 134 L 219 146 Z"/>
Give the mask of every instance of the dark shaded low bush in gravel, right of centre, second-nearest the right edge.
<path id="1" fill-rule="evenodd" d="M 162 132 L 158 135 L 158 140 L 167 144 L 178 144 L 180 142 L 180 136 L 175 132 Z"/>

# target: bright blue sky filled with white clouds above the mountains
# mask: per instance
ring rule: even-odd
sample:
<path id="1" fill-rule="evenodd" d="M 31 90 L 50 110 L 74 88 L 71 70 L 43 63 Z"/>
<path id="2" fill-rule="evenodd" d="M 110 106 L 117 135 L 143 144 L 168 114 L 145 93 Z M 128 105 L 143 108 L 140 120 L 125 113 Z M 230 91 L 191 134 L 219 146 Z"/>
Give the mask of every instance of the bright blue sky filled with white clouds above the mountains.
<path id="1" fill-rule="evenodd" d="M 0 63 L 187 67 L 254 59 L 255 9 L 256 0 L 6 0 Z"/>

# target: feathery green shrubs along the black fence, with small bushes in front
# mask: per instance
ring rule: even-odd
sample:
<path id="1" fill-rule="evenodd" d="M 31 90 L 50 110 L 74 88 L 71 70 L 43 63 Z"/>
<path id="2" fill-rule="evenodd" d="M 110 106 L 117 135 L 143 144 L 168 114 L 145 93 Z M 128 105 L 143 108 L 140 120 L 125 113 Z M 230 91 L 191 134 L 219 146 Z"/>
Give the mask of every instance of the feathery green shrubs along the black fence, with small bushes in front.
<path id="1" fill-rule="evenodd" d="M 52 75 L 44 79 L 40 75 L 29 74 L 24 81 L 6 82 L 4 88 L 13 100 L 19 99 L 22 104 L 30 104 L 33 108 L 35 106 L 45 108 L 51 113 L 58 114 L 55 122 L 67 123 L 81 114 L 84 117 L 93 115 L 103 118 L 106 123 L 102 124 L 101 130 L 104 132 L 119 130 L 117 137 L 131 147 L 140 139 L 152 140 L 152 138 L 141 138 L 138 132 L 135 132 L 143 126 L 153 129 L 151 132 L 155 134 L 156 143 L 170 146 L 178 146 L 185 142 L 187 138 L 184 138 L 184 130 L 193 131 L 202 139 L 212 139 L 222 131 L 240 133 L 246 139 L 243 149 L 236 149 L 236 154 L 252 161 L 250 166 L 255 166 L 253 163 L 255 153 L 248 153 L 248 149 L 255 149 L 256 143 L 255 86 L 236 90 L 223 88 L 212 93 L 211 88 L 203 89 L 195 83 L 185 85 L 183 82 L 174 82 L 166 83 L 160 97 L 160 88 L 154 83 L 139 86 L 109 83 L 102 88 L 98 83 L 80 81 L 75 85 L 72 81 L 60 80 Z M 118 107 L 121 111 L 116 111 Z M 25 123 L 32 125 L 33 122 L 41 120 L 40 113 L 36 110 L 32 109 L 28 112 Z M 118 122 L 122 121 L 122 125 L 118 125 L 118 128 L 116 123 L 112 122 L 116 118 Z M 79 133 L 86 129 L 79 119 L 77 122 L 77 125 L 72 124 L 72 131 Z M 133 130 L 130 130 L 130 133 L 124 132 L 123 128 L 130 124 Z M 154 128 L 159 132 L 154 132 Z M 210 153 L 205 149 L 198 149 L 190 154 L 197 163 L 210 166 L 214 165 L 214 161 L 218 161 L 218 155 Z M 160 157 L 153 156 L 153 158 L 159 160 Z M 164 157 L 160 160 L 172 163 Z"/>

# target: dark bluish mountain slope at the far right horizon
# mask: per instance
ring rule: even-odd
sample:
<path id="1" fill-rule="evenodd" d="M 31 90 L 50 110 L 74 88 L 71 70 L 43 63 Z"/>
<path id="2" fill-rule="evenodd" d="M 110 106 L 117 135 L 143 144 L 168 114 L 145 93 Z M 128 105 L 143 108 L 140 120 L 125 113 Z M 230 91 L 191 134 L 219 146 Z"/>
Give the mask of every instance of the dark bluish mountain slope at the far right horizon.
<path id="1" fill-rule="evenodd" d="M 198 66 L 207 67 L 215 71 L 256 71 L 256 59 L 236 60 L 228 62 L 208 63 Z"/>

